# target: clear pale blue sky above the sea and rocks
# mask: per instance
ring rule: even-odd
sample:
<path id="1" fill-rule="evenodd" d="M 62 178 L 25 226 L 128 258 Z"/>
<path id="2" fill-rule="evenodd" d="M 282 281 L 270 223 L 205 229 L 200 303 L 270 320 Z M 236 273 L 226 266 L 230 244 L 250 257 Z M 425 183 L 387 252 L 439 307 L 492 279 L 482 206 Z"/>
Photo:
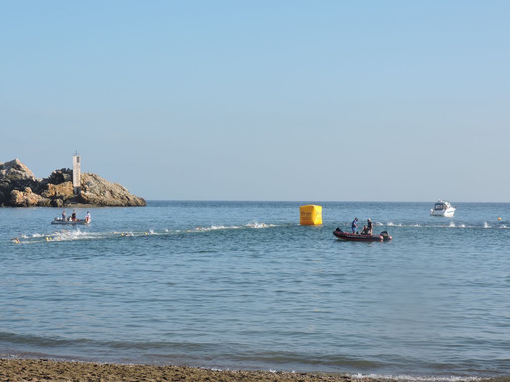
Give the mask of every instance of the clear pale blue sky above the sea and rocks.
<path id="1" fill-rule="evenodd" d="M 146 199 L 510 202 L 510 2 L 4 2 L 0 161 Z"/>

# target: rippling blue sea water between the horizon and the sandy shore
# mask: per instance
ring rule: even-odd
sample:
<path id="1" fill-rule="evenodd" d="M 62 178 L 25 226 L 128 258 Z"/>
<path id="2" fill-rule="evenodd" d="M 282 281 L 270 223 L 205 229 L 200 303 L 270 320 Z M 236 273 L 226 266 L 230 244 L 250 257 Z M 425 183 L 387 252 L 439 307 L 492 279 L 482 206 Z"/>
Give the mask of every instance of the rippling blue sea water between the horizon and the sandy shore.
<path id="1" fill-rule="evenodd" d="M 312 202 L 321 226 L 298 224 L 310 202 L 81 208 L 75 227 L 2 208 L 0 356 L 510 375 L 510 204 L 433 202 Z M 354 217 L 393 241 L 336 239 Z"/>

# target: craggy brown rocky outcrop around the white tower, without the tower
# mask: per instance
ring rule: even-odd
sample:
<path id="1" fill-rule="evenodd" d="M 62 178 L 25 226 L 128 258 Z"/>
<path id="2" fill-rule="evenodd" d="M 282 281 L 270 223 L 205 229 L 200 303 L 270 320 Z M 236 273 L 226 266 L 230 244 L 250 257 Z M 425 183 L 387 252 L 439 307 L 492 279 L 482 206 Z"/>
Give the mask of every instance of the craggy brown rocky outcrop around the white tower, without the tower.
<path id="1" fill-rule="evenodd" d="M 60 169 L 39 179 L 19 159 L 0 162 L 0 206 L 62 207 L 68 204 L 145 206 L 145 199 L 129 193 L 118 183 L 92 173 L 81 174 L 81 193 L 74 195 L 72 170 Z"/>

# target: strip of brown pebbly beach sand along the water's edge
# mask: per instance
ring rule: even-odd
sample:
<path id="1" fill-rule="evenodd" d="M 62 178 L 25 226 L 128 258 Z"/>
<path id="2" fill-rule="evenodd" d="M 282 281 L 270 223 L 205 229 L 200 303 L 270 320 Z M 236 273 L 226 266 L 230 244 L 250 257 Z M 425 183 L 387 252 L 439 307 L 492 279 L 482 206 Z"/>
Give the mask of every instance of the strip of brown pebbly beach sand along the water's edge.
<path id="1" fill-rule="evenodd" d="M 392 379 L 351 378 L 341 374 L 250 370 L 209 370 L 187 366 L 100 364 L 32 359 L 0 359 L 0 381 L 9 382 L 383 382 Z"/>

